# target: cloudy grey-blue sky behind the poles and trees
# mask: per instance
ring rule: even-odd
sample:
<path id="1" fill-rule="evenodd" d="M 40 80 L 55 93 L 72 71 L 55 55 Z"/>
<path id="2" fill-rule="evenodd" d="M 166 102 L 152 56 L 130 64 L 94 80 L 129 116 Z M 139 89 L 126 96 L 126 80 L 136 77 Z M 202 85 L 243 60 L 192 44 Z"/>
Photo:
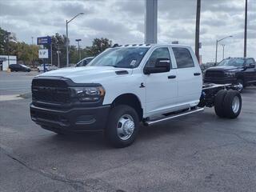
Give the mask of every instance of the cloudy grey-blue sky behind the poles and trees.
<path id="1" fill-rule="evenodd" d="M 243 56 L 245 0 L 202 0 L 200 42 L 202 62 L 214 62 L 216 39 L 218 61 Z M 69 24 L 69 38 L 82 47 L 94 38 L 110 38 L 118 44 L 144 42 L 145 0 L 26 1 L 0 0 L 0 26 L 31 44 L 34 37 L 66 34 L 66 20 L 84 13 Z M 158 0 L 158 42 L 192 46 L 194 49 L 196 0 Z M 247 57 L 256 58 L 256 0 L 248 0 Z"/>

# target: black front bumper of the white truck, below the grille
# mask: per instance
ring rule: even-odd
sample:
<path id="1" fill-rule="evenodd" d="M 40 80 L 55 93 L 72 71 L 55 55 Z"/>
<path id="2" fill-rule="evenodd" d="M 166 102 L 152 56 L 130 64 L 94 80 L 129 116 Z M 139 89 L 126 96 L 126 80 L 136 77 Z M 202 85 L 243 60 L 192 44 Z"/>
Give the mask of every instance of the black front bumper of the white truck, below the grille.
<path id="1" fill-rule="evenodd" d="M 104 130 L 109 112 L 110 106 L 52 110 L 30 104 L 32 120 L 46 130 L 70 132 Z"/>

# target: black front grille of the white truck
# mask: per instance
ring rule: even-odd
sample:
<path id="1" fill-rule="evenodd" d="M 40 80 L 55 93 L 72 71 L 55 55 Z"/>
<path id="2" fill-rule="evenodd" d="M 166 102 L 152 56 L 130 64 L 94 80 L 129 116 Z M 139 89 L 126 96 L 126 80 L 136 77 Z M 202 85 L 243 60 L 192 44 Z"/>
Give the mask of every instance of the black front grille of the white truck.
<path id="1" fill-rule="evenodd" d="M 32 96 L 38 102 L 70 103 L 70 90 L 63 80 L 34 79 Z"/>

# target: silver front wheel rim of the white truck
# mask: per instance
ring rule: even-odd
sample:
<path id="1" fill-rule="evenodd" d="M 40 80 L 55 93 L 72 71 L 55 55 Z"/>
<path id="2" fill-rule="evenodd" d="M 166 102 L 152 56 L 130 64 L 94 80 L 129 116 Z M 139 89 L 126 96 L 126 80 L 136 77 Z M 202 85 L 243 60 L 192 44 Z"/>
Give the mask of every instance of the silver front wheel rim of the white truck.
<path id="1" fill-rule="evenodd" d="M 130 116 L 130 114 L 124 114 L 118 120 L 117 130 L 118 137 L 122 140 L 127 140 L 134 133 L 134 118 Z"/>

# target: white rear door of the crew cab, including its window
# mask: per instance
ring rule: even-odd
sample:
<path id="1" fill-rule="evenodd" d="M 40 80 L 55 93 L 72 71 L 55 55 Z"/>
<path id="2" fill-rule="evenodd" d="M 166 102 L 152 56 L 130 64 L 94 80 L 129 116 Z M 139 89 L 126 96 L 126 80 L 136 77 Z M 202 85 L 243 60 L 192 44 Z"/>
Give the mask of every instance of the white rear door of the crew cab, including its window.
<path id="1" fill-rule="evenodd" d="M 189 47 L 173 47 L 178 74 L 178 105 L 196 106 L 202 94 L 202 71 Z"/>

